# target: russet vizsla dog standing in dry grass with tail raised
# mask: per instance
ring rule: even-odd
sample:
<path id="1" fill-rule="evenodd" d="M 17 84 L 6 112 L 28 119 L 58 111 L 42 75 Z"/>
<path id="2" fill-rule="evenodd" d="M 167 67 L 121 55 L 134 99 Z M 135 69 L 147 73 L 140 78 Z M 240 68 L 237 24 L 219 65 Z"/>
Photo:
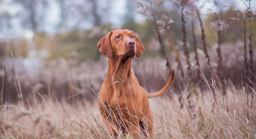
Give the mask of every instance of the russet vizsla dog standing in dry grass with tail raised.
<path id="1" fill-rule="evenodd" d="M 174 72 L 160 91 L 148 94 L 131 69 L 132 58 L 140 57 L 145 49 L 133 31 L 109 32 L 97 47 L 109 58 L 107 76 L 99 92 L 99 109 L 110 133 L 117 136 L 130 132 L 138 138 L 142 131 L 151 138 L 153 118 L 148 98 L 162 95 L 172 84 Z"/>

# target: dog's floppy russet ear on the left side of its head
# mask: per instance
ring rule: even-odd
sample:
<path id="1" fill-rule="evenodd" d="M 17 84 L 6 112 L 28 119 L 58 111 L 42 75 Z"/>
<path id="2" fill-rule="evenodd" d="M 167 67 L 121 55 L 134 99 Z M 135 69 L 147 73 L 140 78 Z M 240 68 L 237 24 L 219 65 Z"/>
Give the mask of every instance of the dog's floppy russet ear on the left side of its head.
<path id="1" fill-rule="evenodd" d="M 108 58 L 111 58 L 113 56 L 113 50 L 110 43 L 110 36 L 113 32 L 108 32 L 108 34 L 101 38 L 101 40 L 98 42 L 97 47 L 100 48 L 100 52 L 106 55 Z"/>

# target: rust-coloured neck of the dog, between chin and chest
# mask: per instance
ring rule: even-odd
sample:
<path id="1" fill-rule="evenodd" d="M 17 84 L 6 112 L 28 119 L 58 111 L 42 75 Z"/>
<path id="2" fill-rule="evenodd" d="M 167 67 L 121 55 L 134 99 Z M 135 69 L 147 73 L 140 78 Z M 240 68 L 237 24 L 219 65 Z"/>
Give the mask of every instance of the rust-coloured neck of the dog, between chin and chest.
<path id="1" fill-rule="evenodd" d="M 123 84 L 127 82 L 127 79 L 131 73 L 132 59 L 127 56 L 124 59 L 119 57 L 109 58 L 108 73 L 106 79 L 111 84 L 118 81 Z"/>

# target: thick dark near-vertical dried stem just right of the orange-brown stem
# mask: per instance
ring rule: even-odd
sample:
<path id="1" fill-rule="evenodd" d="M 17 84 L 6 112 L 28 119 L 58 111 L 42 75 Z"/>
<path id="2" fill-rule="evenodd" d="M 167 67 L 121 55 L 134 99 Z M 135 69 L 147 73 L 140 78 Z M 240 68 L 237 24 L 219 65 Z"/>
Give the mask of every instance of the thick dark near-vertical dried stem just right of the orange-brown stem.
<path id="1" fill-rule="evenodd" d="M 185 21 L 185 15 L 184 15 L 184 9 L 185 9 L 185 5 L 182 4 L 182 9 L 181 9 L 181 22 L 182 22 L 182 35 L 183 35 L 183 49 L 184 49 L 184 54 L 186 56 L 186 62 L 187 62 L 187 72 L 188 72 L 188 76 L 187 76 L 187 82 L 186 84 L 189 85 L 191 82 L 191 76 L 192 76 L 192 72 L 191 72 L 191 62 L 189 60 L 190 56 L 189 56 L 189 51 L 188 51 L 188 47 L 187 47 L 187 40 L 186 40 L 186 21 Z"/>

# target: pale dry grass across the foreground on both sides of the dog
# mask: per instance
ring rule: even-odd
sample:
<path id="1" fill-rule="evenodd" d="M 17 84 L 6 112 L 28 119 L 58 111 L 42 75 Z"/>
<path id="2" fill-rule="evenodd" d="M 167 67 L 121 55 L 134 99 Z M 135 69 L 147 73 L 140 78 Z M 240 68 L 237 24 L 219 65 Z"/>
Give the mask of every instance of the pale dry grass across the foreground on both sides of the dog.
<path id="1" fill-rule="evenodd" d="M 222 96 L 214 103 L 209 91 L 204 94 L 191 95 L 192 111 L 179 107 L 177 95 L 150 99 L 154 138 L 256 138 L 256 104 L 247 107 L 246 92 L 229 87 L 228 107 Z M 93 104 L 77 101 L 74 105 L 49 100 L 46 96 L 41 99 L 42 103 L 26 108 L 21 104 L 5 104 L 1 109 L 0 137 L 113 138 L 99 116 L 96 99 Z M 130 138 L 120 134 L 119 138 L 123 137 Z"/>

